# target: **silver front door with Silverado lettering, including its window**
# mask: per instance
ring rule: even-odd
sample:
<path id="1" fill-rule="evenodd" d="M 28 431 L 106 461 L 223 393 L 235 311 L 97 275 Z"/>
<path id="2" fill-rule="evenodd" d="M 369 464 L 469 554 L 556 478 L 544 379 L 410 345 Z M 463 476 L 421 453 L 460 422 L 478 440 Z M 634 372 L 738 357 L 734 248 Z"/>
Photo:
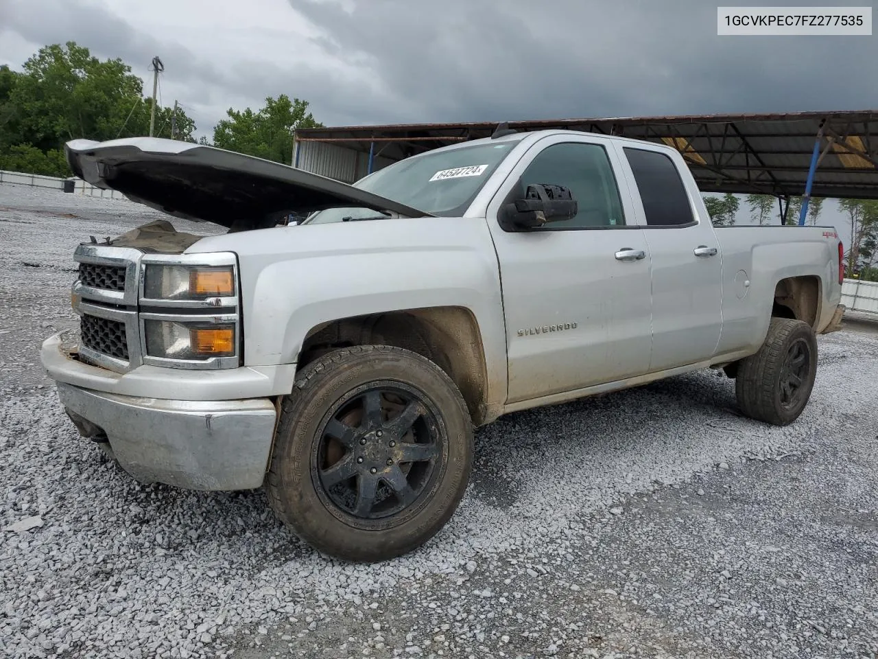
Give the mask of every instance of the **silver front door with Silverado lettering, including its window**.
<path id="1" fill-rule="evenodd" d="M 488 206 L 506 317 L 508 403 L 649 370 L 649 246 L 617 158 L 598 136 L 543 138 Z M 530 184 L 565 186 L 578 214 L 526 231 L 501 228 L 500 208 Z"/>

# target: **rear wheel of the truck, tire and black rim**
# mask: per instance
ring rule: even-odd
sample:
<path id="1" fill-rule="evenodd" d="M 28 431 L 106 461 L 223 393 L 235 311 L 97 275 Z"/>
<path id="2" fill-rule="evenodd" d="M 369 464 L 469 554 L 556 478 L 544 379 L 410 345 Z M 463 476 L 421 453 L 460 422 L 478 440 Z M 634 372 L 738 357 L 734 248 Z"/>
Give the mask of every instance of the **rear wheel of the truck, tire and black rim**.
<path id="1" fill-rule="evenodd" d="M 816 376 L 814 330 L 807 322 L 772 318 L 759 351 L 738 362 L 738 406 L 757 421 L 791 424 L 808 404 Z"/>

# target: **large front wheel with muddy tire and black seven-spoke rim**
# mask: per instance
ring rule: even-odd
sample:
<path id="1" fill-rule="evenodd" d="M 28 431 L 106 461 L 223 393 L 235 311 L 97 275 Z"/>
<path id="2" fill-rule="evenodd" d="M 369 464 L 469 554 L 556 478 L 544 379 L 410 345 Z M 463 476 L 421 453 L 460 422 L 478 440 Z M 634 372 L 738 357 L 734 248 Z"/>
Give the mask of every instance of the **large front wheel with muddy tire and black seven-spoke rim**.
<path id="1" fill-rule="evenodd" d="M 297 377 L 267 489 L 277 517 L 313 547 L 383 561 L 445 525 L 471 462 L 470 415 L 448 375 L 412 351 L 356 346 Z"/>

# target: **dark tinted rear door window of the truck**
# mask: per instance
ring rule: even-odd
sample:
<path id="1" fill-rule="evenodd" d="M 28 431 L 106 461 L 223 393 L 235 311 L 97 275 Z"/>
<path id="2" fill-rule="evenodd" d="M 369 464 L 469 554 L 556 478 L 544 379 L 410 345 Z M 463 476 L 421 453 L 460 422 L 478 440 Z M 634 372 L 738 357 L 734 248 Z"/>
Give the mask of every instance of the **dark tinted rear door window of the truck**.
<path id="1" fill-rule="evenodd" d="M 668 227 L 693 223 L 692 206 L 673 160 L 643 148 L 625 147 L 624 151 L 644 202 L 646 224 Z"/>

